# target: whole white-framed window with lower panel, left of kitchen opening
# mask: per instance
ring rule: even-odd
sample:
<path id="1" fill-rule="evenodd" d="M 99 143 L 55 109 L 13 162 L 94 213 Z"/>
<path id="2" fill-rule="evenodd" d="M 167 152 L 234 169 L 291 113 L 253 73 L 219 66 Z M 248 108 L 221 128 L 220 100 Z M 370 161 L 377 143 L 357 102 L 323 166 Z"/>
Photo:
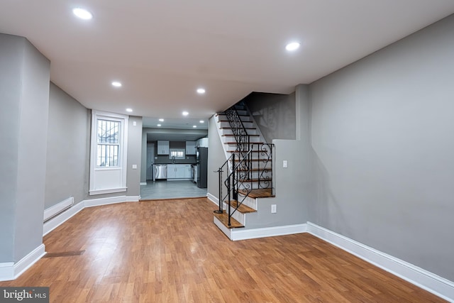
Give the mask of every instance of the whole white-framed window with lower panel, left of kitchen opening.
<path id="1" fill-rule="evenodd" d="M 128 116 L 92 112 L 89 194 L 126 192 Z"/>

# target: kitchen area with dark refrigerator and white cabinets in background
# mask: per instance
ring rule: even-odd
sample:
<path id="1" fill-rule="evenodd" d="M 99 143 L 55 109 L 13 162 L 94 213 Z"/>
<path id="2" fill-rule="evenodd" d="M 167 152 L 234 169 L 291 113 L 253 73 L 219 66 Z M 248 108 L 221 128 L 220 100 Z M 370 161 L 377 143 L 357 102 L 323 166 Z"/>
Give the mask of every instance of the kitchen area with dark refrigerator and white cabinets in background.
<path id="1" fill-rule="evenodd" d="M 206 197 L 208 138 L 148 141 L 140 199 Z"/>

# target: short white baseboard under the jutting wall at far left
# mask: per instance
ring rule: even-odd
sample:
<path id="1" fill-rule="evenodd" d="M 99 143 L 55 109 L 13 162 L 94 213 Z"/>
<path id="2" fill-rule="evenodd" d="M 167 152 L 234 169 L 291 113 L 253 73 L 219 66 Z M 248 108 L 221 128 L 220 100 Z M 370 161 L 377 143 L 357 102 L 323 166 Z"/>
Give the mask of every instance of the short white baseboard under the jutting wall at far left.
<path id="1" fill-rule="evenodd" d="M 0 281 L 14 280 L 23 272 L 28 270 L 31 265 L 35 264 L 40 258 L 45 255 L 45 246 L 41 244 L 35 248 L 31 253 L 18 261 L 18 263 L 8 262 L 0 263 Z"/>

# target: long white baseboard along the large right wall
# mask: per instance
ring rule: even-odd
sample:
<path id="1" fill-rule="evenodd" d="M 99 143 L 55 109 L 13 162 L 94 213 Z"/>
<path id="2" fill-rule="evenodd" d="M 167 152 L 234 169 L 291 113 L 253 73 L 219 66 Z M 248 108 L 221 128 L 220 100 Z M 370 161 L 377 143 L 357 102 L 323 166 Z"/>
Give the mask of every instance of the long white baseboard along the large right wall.
<path id="1" fill-rule="evenodd" d="M 423 290 L 436 294 L 449 302 L 454 302 L 454 282 L 450 280 L 311 222 L 307 223 L 307 231 L 323 241 L 331 243 L 362 260 L 372 263 L 393 275 L 397 275 L 397 277 L 401 277 L 411 284 L 421 287 Z"/>

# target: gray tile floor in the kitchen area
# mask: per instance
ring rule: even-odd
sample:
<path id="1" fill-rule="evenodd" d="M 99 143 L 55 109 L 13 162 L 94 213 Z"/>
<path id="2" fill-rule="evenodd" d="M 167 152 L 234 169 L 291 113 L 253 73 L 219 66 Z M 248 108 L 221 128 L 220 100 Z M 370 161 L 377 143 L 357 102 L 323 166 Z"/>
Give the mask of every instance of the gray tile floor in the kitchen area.
<path id="1" fill-rule="evenodd" d="M 148 180 L 146 185 L 140 185 L 141 200 L 192 197 L 206 197 L 206 188 L 199 188 L 190 180 Z"/>

